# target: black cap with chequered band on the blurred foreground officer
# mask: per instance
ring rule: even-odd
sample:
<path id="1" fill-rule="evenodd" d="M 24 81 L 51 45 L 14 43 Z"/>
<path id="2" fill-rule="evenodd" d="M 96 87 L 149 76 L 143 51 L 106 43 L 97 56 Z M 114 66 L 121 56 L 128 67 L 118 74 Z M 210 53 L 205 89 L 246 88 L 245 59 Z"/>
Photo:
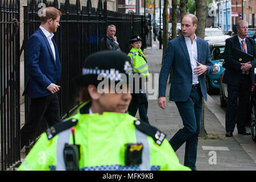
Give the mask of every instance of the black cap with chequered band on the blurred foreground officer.
<path id="1" fill-rule="evenodd" d="M 129 81 L 129 74 L 133 73 L 130 64 L 130 57 L 123 52 L 101 51 L 88 56 L 82 68 L 82 76 L 74 79 L 78 85 L 98 85 L 102 80 L 98 80 L 98 75 L 106 77 L 115 83 L 123 81 L 122 74 L 125 74 Z"/>

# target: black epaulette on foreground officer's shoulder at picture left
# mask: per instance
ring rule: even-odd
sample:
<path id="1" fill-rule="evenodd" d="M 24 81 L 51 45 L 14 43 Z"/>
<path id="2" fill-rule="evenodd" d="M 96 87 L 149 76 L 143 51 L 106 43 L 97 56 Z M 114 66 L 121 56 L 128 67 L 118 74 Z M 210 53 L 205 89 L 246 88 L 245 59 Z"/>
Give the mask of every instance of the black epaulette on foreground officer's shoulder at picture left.
<path id="1" fill-rule="evenodd" d="M 65 131 L 67 129 L 70 129 L 73 126 L 76 126 L 78 120 L 75 118 L 72 119 L 65 119 L 62 122 L 56 123 L 51 128 L 46 130 L 47 138 L 48 140 L 55 137 L 55 135 L 61 133 L 61 131 Z"/>

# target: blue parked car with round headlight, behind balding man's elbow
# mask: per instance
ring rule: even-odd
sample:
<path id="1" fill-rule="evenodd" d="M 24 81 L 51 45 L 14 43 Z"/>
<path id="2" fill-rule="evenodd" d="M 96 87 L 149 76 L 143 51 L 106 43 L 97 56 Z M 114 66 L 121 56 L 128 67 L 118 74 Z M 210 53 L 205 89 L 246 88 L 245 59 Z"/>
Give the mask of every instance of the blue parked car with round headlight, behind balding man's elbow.
<path id="1" fill-rule="evenodd" d="M 223 53 L 225 42 L 210 44 L 209 47 L 213 63 L 213 72 L 209 76 L 206 76 L 205 81 L 207 92 L 210 94 L 220 92 L 220 75 L 225 70 L 225 68 L 222 67 L 222 63 L 224 62 Z"/>

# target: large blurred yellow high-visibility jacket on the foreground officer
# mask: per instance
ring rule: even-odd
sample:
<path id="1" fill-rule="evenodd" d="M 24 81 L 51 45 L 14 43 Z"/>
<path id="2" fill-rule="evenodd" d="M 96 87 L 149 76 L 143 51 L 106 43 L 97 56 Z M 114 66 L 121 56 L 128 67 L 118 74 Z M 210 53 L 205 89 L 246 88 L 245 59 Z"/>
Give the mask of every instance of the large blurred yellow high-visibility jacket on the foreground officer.
<path id="1" fill-rule="evenodd" d="M 79 169 L 90 170 L 190 170 L 179 160 L 167 139 L 160 140 L 138 130 L 137 118 L 127 113 L 105 112 L 103 114 L 84 114 L 89 110 L 86 102 L 78 109 L 75 118 L 75 143 L 80 145 Z M 89 113 L 89 112 L 86 112 Z M 66 121 L 66 122 L 67 122 Z M 65 122 L 58 126 L 63 127 Z M 148 125 L 149 132 L 152 126 Z M 56 129 L 56 128 L 55 128 Z M 155 129 L 155 128 L 154 128 Z M 64 144 L 73 144 L 71 129 L 54 134 L 43 133 L 35 146 L 24 159 L 18 170 L 63 170 Z M 159 134 L 159 131 L 158 131 Z M 157 134 L 155 134 L 157 135 Z M 125 165 L 125 144 L 142 143 L 142 163 L 136 166 Z"/>

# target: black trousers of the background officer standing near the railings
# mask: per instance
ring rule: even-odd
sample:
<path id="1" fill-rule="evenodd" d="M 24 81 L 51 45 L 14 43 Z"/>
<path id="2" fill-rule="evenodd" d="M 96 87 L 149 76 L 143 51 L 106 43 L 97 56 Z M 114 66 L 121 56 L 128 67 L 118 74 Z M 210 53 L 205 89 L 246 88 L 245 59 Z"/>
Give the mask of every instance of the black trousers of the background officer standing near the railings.
<path id="1" fill-rule="evenodd" d="M 148 102 L 146 93 L 132 93 L 131 96 L 133 98 L 131 99 L 131 103 L 128 107 L 129 114 L 135 117 L 139 109 L 139 119 L 143 122 L 149 123 L 147 117 Z"/>

